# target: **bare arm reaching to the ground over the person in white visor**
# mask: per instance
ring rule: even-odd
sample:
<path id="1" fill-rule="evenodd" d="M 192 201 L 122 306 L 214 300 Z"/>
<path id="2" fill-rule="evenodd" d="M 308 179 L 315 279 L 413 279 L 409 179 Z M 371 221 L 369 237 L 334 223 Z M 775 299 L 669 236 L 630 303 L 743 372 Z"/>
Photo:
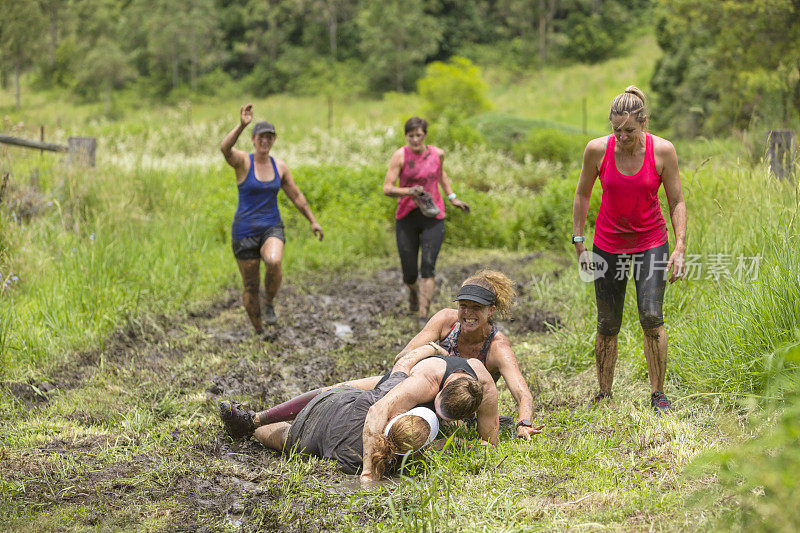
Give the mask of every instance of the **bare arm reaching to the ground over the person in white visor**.
<path id="1" fill-rule="evenodd" d="M 441 361 L 441 360 L 439 360 Z M 427 361 L 420 363 L 425 365 Z M 401 381 L 389 393 L 378 400 L 367 412 L 362 435 L 364 452 L 361 481 L 377 480 L 372 471 L 372 454 L 375 452 L 378 440 L 383 435 L 383 430 L 389 419 L 404 413 L 420 403 L 433 400 L 439 391 L 439 384 L 435 379 L 435 372 L 419 372 Z M 441 373 L 439 373 L 441 374 Z"/>

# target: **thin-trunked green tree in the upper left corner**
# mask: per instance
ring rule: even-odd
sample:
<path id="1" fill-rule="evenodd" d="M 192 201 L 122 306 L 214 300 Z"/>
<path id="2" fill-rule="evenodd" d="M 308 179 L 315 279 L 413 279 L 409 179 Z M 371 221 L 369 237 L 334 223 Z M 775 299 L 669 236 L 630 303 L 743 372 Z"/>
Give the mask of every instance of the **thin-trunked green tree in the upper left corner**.
<path id="1" fill-rule="evenodd" d="M 41 49 L 44 17 L 36 0 L 0 0 L 0 60 L 14 71 L 17 109 L 20 108 L 20 76 Z"/>

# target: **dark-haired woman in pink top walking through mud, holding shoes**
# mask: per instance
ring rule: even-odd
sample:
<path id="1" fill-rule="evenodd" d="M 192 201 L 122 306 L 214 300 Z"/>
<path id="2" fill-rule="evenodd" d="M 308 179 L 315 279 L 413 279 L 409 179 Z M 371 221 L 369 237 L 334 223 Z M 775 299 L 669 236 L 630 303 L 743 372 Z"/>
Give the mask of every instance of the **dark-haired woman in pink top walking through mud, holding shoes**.
<path id="1" fill-rule="evenodd" d="M 442 169 L 444 151 L 425 144 L 428 123 L 412 117 L 405 124 L 405 134 L 406 146 L 395 151 L 389 162 L 383 194 L 398 199 L 395 234 L 403 282 L 408 287 L 411 312 L 425 324 L 433 299 L 436 258 L 444 241 L 444 201 L 439 187 L 454 207 L 469 212 L 469 206 L 456 198 Z"/>

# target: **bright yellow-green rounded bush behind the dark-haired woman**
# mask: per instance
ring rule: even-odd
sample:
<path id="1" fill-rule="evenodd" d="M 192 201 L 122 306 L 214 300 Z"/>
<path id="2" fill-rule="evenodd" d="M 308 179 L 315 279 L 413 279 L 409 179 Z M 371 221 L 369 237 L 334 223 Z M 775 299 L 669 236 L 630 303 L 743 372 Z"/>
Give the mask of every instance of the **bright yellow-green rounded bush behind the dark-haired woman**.
<path id="1" fill-rule="evenodd" d="M 491 107 L 480 68 L 463 57 L 428 65 L 417 90 L 425 101 L 423 113 L 431 121 L 456 123 Z"/>

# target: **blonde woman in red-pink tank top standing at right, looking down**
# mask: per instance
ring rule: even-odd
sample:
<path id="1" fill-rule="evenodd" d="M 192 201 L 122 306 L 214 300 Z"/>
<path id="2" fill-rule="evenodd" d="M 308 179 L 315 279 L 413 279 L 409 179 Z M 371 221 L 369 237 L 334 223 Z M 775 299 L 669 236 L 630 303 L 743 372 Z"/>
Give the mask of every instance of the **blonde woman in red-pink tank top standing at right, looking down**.
<path id="1" fill-rule="evenodd" d="M 686 204 L 675 147 L 645 131 L 645 97 L 631 85 L 611 103 L 612 135 L 589 141 L 572 206 L 572 242 L 582 278 L 593 279 L 597 300 L 595 357 L 600 392 L 593 402 L 611 397 L 617 362 L 617 334 L 628 277 L 636 283 L 639 322 L 644 331 L 644 355 L 650 377 L 650 405 L 656 412 L 672 410 L 664 395 L 667 337 L 662 306 L 669 282 L 685 273 Z M 594 182 L 603 195 L 594 232 L 593 252 L 584 245 L 584 229 Z M 675 248 L 669 254 L 667 226 L 661 215 L 658 189 L 663 184 L 669 204 Z"/>

